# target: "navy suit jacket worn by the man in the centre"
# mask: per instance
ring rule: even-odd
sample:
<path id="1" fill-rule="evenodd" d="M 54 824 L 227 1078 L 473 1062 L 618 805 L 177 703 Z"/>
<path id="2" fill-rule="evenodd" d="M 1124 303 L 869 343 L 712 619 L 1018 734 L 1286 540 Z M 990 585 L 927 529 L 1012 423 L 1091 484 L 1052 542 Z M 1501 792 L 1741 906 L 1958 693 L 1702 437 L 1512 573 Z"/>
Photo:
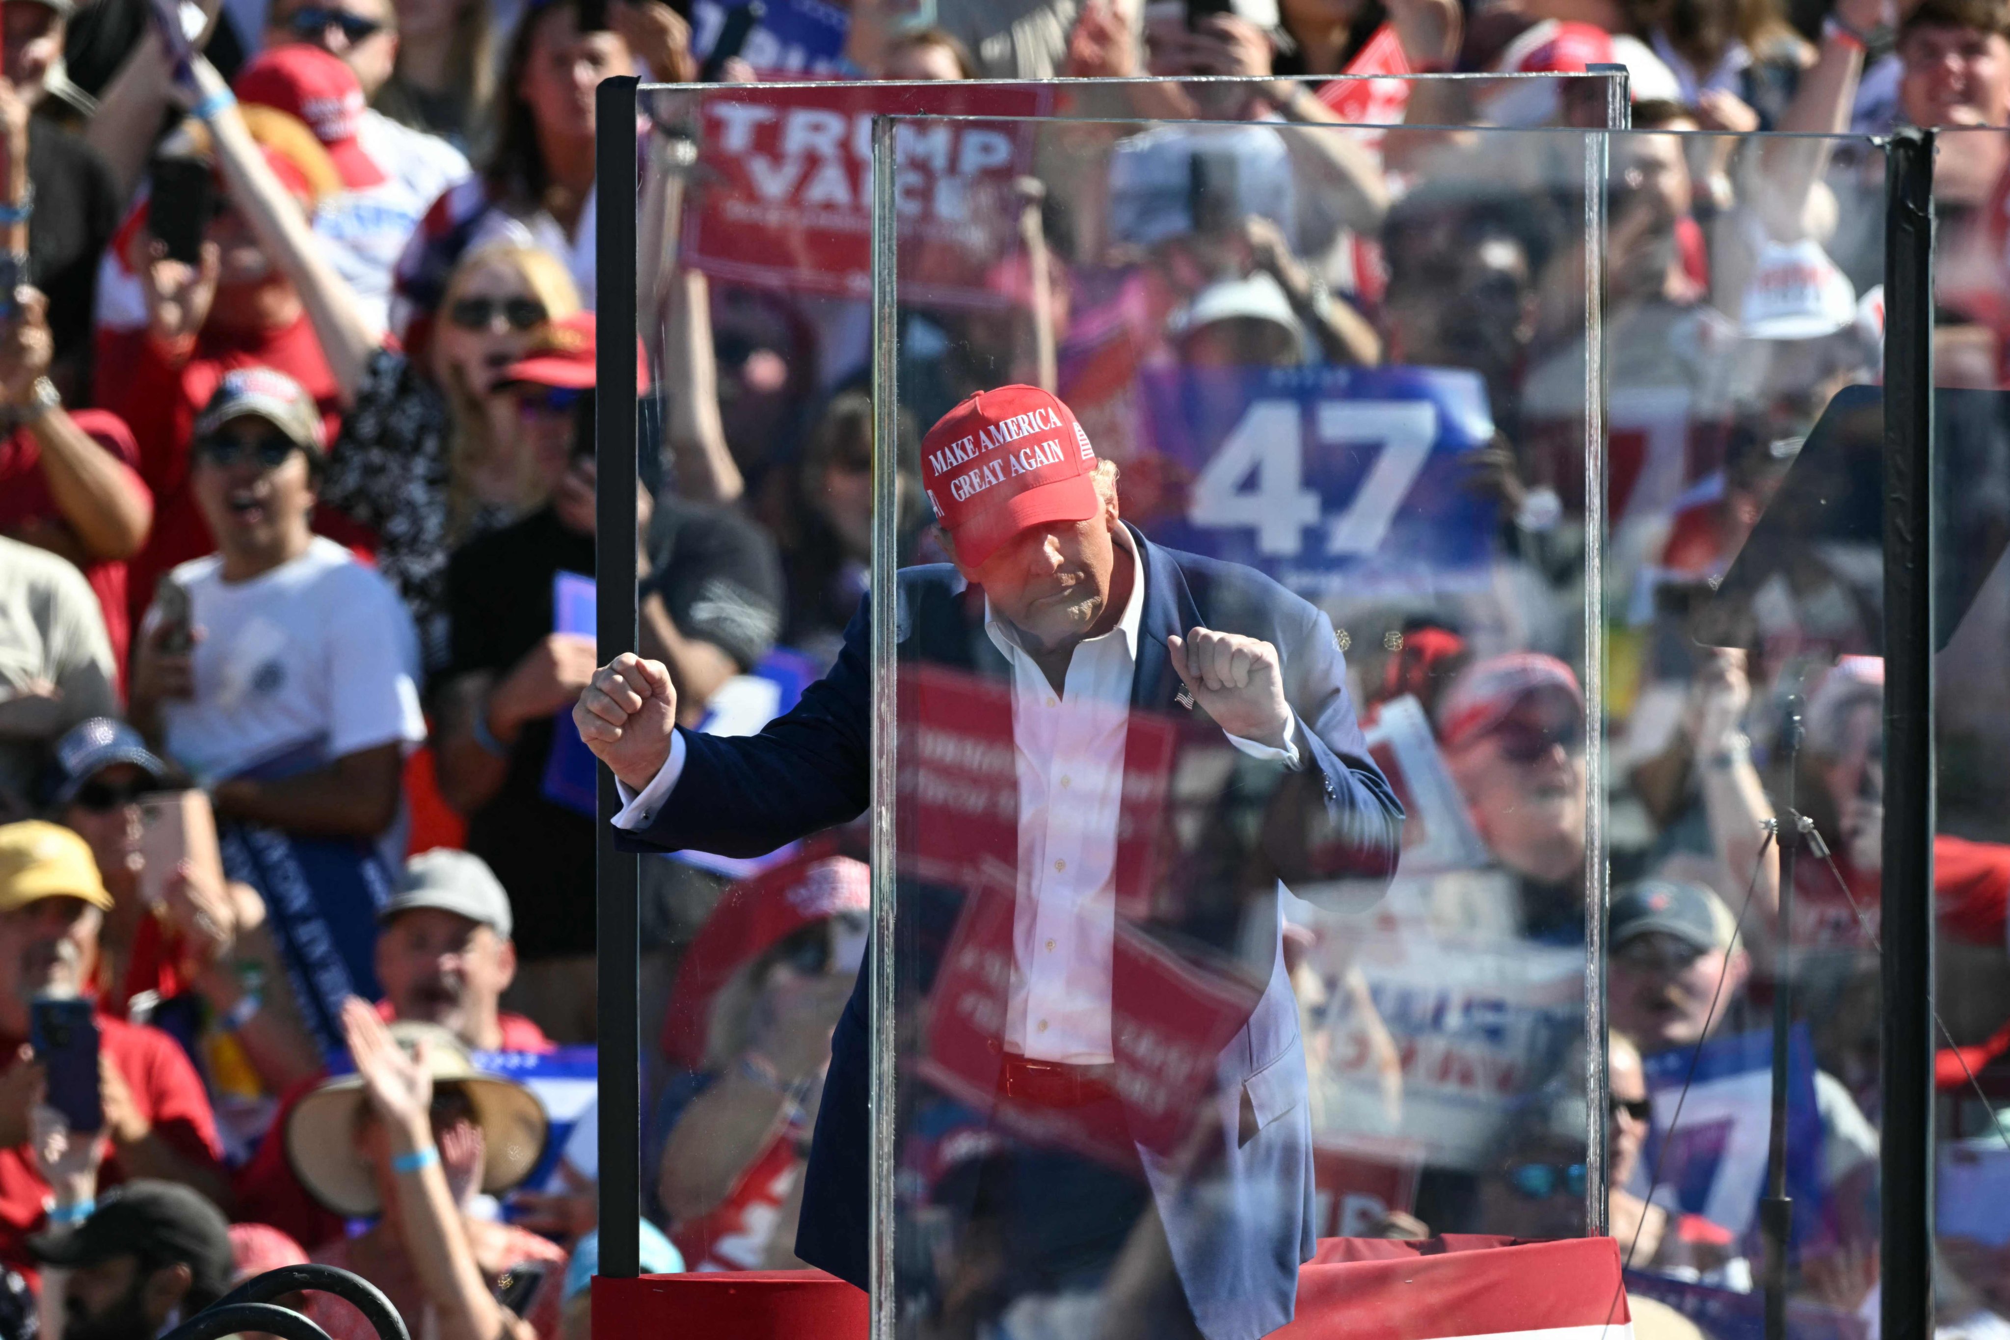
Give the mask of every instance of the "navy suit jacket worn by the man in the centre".
<path id="1" fill-rule="evenodd" d="M 1302 816 L 1276 826 L 1296 836 L 1268 868 L 1282 882 L 1349 878 L 1353 888 L 1379 896 L 1395 872 L 1403 810 L 1361 737 L 1331 621 L 1252 569 L 1160 548 L 1136 530 L 1132 536 L 1146 581 L 1132 707 L 1184 715 L 1174 705 L 1182 685 L 1166 651 L 1170 635 L 1208 627 L 1272 643 L 1298 721 L 1294 739 L 1304 773 L 1288 802 Z M 902 569 L 896 595 L 902 663 L 1009 677 L 1009 665 L 983 631 L 981 593 L 953 567 Z M 830 673 L 760 735 L 685 733 L 677 786 L 645 828 L 619 834 L 619 846 L 760 856 L 856 818 L 870 804 L 868 643 L 870 619 L 860 609 Z M 1309 828 L 1321 834 L 1319 842 L 1298 840 Z M 1284 1326 L 1298 1266 L 1313 1256 L 1315 1242 L 1309 1081 L 1298 1011 L 1276 948 L 1274 892 L 1254 910 L 1270 924 L 1260 936 L 1272 944 L 1270 962 L 1256 974 L 1260 998 L 1216 1063 L 1210 1103 L 1218 1121 L 1202 1139 L 1218 1149 L 1202 1159 L 1188 1149 L 1178 1163 L 1138 1149 L 1188 1304 L 1208 1340 L 1252 1340 Z M 1224 934 L 1236 930 L 1246 940 L 1246 926 Z M 1192 944 L 1192 926 L 1180 926 L 1170 942 Z M 868 976 L 858 974 L 832 1037 L 796 1238 L 802 1260 L 860 1288 L 868 1258 Z"/>

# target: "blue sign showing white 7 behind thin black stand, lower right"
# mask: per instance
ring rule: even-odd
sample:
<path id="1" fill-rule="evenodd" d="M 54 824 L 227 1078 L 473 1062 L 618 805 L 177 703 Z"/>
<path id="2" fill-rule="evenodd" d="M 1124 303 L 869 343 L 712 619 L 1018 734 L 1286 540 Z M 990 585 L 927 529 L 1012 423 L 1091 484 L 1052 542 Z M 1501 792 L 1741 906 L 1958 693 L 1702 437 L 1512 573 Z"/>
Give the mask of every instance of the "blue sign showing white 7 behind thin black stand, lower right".
<path id="1" fill-rule="evenodd" d="M 1745 1236 L 1765 1193 L 1773 1117 L 1773 1033 L 1713 1037 L 1646 1057 L 1654 1101 L 1646 1167 L 1656 1201 L 1680 1205 Z M 1676 1115 L 1680 1113 L 1680 1115 Z M 1787 1195 L 1795 1201 L 1793 1240 L 1807 1244 L 1823 1211 L 1823 1129 L 1815 1105 L 1815 1051 L 1807 1025 L 1787 1043 Z"/>

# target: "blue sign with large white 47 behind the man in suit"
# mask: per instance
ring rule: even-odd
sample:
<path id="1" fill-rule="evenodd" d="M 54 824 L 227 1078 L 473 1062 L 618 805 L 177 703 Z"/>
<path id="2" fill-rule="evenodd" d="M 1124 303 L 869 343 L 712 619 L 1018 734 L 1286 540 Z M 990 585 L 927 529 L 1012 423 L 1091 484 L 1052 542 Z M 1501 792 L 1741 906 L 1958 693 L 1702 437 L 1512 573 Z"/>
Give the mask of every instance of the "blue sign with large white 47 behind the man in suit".
<path id="1" fill-rule="evenodd" d="M 1497 504 L 1461 460 L 1493 438 L 1473 372 L 1168 370 L 1140 392 L 1154 458 L 1126 466 L 1148 474 L 1126 506 L 1146 498 L 1156 540 L 1306 597 L 1431 589 L 1495 552 Z"/>

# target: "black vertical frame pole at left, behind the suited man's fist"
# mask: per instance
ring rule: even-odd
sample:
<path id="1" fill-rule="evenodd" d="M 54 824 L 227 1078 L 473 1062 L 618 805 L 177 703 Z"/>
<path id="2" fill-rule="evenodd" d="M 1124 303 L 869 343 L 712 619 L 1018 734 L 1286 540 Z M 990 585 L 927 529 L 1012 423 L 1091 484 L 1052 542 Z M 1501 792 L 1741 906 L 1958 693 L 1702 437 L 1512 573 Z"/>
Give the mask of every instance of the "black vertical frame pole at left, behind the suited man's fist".
<path id="1" fill-rule="evenodd" d="M 633 74 L 593 92 L 595 173 L 595 444 L 593 633 L 607 665 L 635 651 L 635 209 L 637 147 Z M 605 394 L 603 394 L 605 392 Z M 621 810 L 615 775 L 599 765 L 593 902 L 599 914 L 599 1123 L 601 1270 L 641 1274 L 641 858 L 615 850 Z"/>

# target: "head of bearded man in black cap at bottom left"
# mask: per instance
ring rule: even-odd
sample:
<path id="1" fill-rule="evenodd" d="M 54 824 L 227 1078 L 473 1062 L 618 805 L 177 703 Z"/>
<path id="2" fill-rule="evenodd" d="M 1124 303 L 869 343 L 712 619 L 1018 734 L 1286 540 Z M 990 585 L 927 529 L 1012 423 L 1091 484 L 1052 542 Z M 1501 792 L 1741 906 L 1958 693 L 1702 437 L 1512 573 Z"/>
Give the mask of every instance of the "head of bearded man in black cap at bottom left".
<path id="1" fill-rule="evenodd" d="M 229 1223 L 167 1181 L 135 1181 L 30 1248 L 60 1298 L 64 1340 L 149 1340 L 231 1288 Z"/>

